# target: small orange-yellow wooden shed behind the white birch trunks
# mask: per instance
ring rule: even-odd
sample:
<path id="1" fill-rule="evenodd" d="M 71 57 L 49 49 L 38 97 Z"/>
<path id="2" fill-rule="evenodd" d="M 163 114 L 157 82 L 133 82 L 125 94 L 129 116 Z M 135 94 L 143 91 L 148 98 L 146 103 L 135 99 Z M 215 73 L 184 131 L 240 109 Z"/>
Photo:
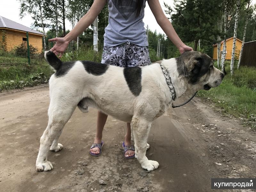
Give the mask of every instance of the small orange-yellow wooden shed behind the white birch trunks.
<path id="1" fill-rule="evenodd" d="M 220 52 L 223 50 L 223 42 L 221 42 L 221 47 L 220 47 Z M 233 47 L 233 37 L 230 37 L 229 39 L 226 40 L 227 44 L 227 55 L 226 55 L 226 60 L 231 60 L 231 54 L 232 54 L 232 47 Z M 217 44 L 212 45 L 213 46 L 213 58 L 214 60 L 217 60 Z M 242 41 L 238 38 L 236 38 L 236 55 L 239 57 L 239 53 L 242 47 Z"/>

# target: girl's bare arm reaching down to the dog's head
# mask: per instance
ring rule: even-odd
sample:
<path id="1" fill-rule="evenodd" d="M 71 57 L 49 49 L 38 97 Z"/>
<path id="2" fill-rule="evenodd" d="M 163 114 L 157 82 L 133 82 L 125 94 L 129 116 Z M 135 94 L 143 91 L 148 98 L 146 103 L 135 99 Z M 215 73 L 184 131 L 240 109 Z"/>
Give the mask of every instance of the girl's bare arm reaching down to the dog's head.
<path id="1" fill-rule="evenodd" d="M 186 51 L 193 51 L 191 47 L 188 47 L 181 41 L 180 37 L 174 30 L 172 23 L 165 16 L 159 0 L 148 0 L 148 5 L 156 18 L 156 22 L 163 29 L 164 33 L 169 37 L 172 43 L 179 49 L 180 53 L 182 54 Z"/>

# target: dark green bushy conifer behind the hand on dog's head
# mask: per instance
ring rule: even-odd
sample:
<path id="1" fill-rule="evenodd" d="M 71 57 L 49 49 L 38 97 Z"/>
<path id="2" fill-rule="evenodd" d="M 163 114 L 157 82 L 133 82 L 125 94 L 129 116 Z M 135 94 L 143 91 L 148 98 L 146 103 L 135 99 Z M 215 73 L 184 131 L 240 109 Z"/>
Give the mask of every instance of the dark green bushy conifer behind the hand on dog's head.
<path id="1" fill-rule="evenodd" d="M 197 50 L 199 39 L 209 40 L 219 34 L 216 26 L 221 0 L 174 0 L 174 9 L 164 3 L 166 14 L 170 15 L 172 25 L 185 42 L 194 41 Z"/>

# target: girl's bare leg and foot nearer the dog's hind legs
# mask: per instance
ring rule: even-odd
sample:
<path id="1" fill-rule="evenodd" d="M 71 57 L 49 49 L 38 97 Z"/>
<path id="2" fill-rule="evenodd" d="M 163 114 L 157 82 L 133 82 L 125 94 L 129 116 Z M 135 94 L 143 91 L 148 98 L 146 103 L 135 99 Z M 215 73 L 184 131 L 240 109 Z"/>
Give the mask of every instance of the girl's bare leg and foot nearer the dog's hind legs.
<path id="1" fill-rule="evenodd" d="M 96 135 L 93 143 L 101 143 L 102 139 L 102 132 L 104 125 L 107 121 L 108 116 L 101 111 L 98 111 L 98 116 L 97 116 L 97 130 L 96 130 Z M 94 147 L 90 149 L 90 152 L 93 154 L 99 154 L 100 153 L 100 148 Z"/>

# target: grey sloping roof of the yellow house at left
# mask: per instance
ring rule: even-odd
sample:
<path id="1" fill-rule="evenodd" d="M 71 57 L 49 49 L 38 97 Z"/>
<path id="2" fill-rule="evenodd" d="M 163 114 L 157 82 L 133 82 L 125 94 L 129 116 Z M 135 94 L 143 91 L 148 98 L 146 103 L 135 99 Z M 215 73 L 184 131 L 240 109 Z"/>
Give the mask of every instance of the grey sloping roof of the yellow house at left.
<path id="1" fill-rule="evenodd" d="M 10 29 L 16 29 L 16 30 L 20 30 L 20 31 L 26 31 L 26 32 L 30 32 L 30 33 L 36 33 L 39 35 L 43 35 L 43 33 L 39 32 L 39 31 L 36 31 L 29 27 L 26 27 L 25 25 L 21 25 L 20 23 L 9 20 L 2 16 L 0 16 L 0 28 L 10 28 Z"/>

